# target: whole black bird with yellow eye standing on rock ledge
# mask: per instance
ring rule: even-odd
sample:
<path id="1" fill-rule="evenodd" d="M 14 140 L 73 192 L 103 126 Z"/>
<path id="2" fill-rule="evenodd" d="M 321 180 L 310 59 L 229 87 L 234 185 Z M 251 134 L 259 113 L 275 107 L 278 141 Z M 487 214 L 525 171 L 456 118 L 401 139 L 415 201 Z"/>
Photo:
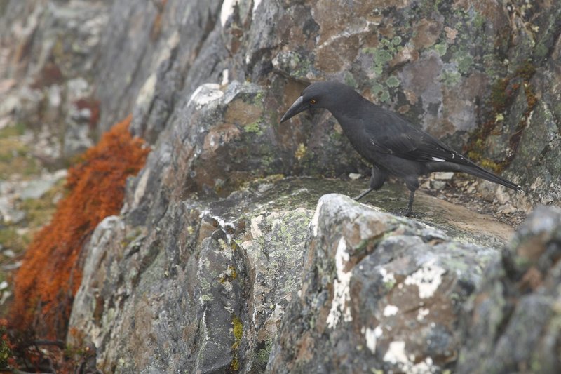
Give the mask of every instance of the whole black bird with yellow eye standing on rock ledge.
<path id="1" fill-rule="evenodd" d="M 345 84 L 311 84 L 302 91 L 280 122 L 310 108 L 329 110 L 341 124 L 354 149 L 372 163 L 370 188 L 356 196 L 354 199 L 357 201 L 380 189 L 388 176 L 394 175 L 403 180 L 410 190 L 405 215 L 412 215 L 419 175 L 433 171 L 468 173 L 524 192 L 519 185 L 486 171 L 397 113 L 374 105 Z"/>

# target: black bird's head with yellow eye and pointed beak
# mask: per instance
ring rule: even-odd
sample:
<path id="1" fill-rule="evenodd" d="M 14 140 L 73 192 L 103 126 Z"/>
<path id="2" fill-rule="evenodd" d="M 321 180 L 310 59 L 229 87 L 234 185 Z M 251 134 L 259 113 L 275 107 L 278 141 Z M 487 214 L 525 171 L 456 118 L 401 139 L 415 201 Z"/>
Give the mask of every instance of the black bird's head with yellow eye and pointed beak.
<path id="1" fill-rule="evenodd" d="M 341 98 L 345 98 L 347 92 L 358 95 L 353 88 L 339 82 L 316 82 L 302 91 L 296 101 L 290 105 L 280 122 L 287 121 L 300 112 L 311 108 L 334 109 L 338 105 L 344 105 Z"/>

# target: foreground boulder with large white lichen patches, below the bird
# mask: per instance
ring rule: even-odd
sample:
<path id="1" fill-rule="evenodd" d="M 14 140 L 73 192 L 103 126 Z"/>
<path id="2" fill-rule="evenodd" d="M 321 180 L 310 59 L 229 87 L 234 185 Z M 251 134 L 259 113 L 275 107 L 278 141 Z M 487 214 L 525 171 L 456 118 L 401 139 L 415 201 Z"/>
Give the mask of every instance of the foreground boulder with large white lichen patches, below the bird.
<path id="1" fill-rule="evenodd" d="M 268 370 L 435 373 L 457 359 L 462 303 L 498 253 L 330 194 Z"/>

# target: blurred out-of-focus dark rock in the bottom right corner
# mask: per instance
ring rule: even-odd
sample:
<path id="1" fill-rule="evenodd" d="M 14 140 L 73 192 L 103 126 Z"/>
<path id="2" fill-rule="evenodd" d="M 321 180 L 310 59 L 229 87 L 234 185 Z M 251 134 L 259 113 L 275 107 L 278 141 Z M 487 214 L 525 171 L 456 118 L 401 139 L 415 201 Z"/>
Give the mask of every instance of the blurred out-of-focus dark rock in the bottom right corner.
<path id="1" fill-rule="evenodd" d="M 457 373 L 557 373 L 561 211 L 536 208 L 468 304 Z"/>

